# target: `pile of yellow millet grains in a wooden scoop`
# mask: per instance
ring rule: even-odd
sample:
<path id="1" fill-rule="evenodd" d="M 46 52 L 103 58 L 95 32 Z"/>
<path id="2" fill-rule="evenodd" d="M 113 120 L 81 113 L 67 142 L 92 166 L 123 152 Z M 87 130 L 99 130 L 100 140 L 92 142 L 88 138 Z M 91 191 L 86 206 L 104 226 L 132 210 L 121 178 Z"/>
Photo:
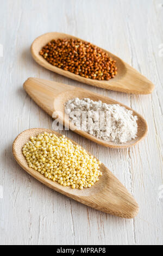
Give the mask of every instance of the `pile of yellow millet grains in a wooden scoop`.
<path id="1" fill-rule="evenodd" d="M 28 166 L 62 186 L 83 190 L 99 180 L 100 161 L 74 145 L 64 135 L 41 133 L 23 146 Z"/>

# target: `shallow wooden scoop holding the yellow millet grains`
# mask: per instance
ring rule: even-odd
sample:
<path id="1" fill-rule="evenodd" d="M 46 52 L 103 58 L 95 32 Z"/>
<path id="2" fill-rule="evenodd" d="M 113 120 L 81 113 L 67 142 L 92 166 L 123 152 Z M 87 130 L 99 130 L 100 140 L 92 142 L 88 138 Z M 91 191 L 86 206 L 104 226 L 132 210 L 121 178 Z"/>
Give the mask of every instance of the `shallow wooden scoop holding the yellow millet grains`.
<path id="1" fill-rule="evenodd" d="M 100 170 L 103 175 L 99 178 L 99 181 L 91 188 L 84 188 L 82 191 L 61 186 L 58 182 L 49 180 L 36 170 L 29 168 L 22 154 L 22 147 L 30 140 L 30 136 L 37 136 L 42 132 L 55 133 L 57 136 L 61 136 L 59 133 L 47 129 L 29 129 L 20 133 L 13 143 L 12 151 L 15 160 L 27 173 L 53 190 L 97 210 L 123 218 L 134 218 L 136 216 L 139 206 L 135 199 L 104 164 L 101 164 Z"/>

